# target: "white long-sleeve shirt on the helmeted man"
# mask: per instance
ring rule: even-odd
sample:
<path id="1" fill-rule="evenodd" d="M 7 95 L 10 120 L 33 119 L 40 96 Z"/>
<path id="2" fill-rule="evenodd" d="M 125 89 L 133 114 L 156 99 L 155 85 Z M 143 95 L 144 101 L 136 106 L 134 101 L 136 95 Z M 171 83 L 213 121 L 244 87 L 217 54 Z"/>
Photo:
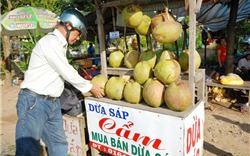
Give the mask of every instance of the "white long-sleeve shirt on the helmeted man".
<path id="1" fill-rule="evenodd" d="M 90 91 L 90 81 L 82 78 L 68 63 L 67 47 L 65 37 L 57 29 L 41 38 L 32 51 L 21 88 L 59 97 L 66 80 L 82 93 Z"/>

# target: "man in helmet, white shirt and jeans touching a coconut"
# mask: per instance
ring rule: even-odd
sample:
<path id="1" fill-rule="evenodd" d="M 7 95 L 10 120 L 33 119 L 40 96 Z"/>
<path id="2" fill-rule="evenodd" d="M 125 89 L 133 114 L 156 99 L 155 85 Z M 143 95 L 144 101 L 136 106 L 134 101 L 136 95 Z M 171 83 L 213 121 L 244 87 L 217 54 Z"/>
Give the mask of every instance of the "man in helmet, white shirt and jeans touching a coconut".
<path id="1" fill-rule="evenodd" d="M 64 81 L 68 81 L 82 93 L 91 92 L 103 97 L 99 86 L 83 79 L 68 64 L 66 51 L 83 35 L 87 23 L 75 9 L 65 10 L 57 29 L 48 33 L 32 51 L 29 68 L 17 101 L 16 156 L 38 156 L 40 139 L 48 147 L 49 156 L 66 156 L 68 143 L 63 129 L 60 97 Z"/>

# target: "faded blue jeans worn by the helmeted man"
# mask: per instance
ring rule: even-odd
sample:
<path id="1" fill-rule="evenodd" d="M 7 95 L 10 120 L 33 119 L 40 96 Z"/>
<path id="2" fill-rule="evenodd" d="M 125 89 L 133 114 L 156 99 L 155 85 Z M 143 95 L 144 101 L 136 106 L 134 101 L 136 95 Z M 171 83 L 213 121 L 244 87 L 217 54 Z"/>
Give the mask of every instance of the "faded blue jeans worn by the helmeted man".
<path id="1" fill-rule="evenodd" d="M 49 156 L 67 156 L 59 99 L 47 99 L 21 89 L 16 109 L 16 156 L 39 156 L 40 139 L 46 144 Z"/>

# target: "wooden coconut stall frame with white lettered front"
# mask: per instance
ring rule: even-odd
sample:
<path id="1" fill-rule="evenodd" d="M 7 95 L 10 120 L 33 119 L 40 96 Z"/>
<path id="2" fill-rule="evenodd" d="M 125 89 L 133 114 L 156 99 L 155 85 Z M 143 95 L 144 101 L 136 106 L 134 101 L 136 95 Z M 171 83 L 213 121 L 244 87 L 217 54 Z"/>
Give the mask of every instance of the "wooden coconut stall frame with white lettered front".
<path id="1" fill-rule="evenodd" d="M 95 0 L 101 74 L 109 80 L 112 77 L 118 79 L 119 77 L 133 76 L 135 68 L 110 67 L 107 65 L 102 13 L 108 7 L 126 6 L 133 3 L 134 1 L 112 1 L 101 4 L 100 1 Z M 100 151 L 117 156 L 202 155 L 205 70 L 196 69 L 194 59 L 195 19 L 201 3 L 201 0 L 197 2 L 185 1 L 190 18 L 189 69 L 188 72 L 182 72 L 176 78 L 176 80 L 178 79 L 188 86 L 190 107 L 185 110 L 174 111 L 164 104 L 155 107 L 149 106 L 145 100 L 132 104 L 124 100 L 123 97 L 120 99 L 113 99 L 109 96 L 101 99 L 85 97 L 86 122 L 78 124 L 77 121 L 74 125 L 76 129 L 87 127 L 85 131 L 79 133 L 87 132 L 88 141 L 77 147 L 72 147 L 72 150 L 69 149 L 70 154 L 86 155 L 88 151 L 86 144 L 88 143 L 92 156 L 99 155 Z M 124 29 L 126 28 L 124 27 Z M 115 83 L 111 84 L 116 87 Z M 166 86 L 170 86 L 170 84 Z M 119 94 L 119 91 L 117 90 L 116 93 Z M 151 98 L 153 98 L 153 95 Z M 182 99 L 182 96 L 180 95 L 179 98 Z M 78 120 L 78 118 L 80 117 L 75 117 L 74 120 Z M 65 123 L 70 123 L 69 120 L 65 118 Z M 71 131 L 67 128 L 68 125 L 72 124 L 65 124 L 67 136 L 71 134 Z M 74 138 L 69 137 L 69 143 L 72 140 Z"/>

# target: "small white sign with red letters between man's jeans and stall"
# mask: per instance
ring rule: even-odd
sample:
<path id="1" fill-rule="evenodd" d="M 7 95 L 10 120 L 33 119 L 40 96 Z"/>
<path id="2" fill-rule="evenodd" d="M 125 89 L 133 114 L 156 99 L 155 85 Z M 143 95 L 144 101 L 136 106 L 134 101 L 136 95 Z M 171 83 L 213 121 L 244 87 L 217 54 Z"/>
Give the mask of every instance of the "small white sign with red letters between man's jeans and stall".
<path id="1" fill-rule="evenodd" d="M 68 154 L 72 156 L 83 155 L 83 144 L 82 144 L 82 125 L 80 120 L 83 118 L 71 117 L 63 115 L 63 128 L 68 141 Z"/>

